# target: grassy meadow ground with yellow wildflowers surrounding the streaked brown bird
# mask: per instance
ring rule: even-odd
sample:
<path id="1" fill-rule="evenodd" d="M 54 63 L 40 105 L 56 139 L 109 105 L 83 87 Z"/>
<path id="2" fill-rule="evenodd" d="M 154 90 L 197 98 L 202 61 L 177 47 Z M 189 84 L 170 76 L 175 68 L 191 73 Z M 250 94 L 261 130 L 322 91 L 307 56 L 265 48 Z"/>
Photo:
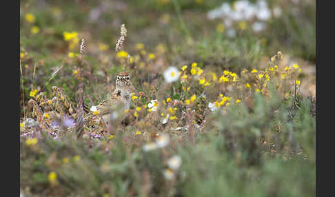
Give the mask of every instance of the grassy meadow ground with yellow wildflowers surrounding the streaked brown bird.
<path id="1" fill-rule="evenodd" d="M 315 195 L 314 1 L 267 1 L 260 32 L 215 0 L 20 3 L 25 196 Z M 124 70 L 127 123 L 77 139 L 79 84 L 91 107 Z"/>

